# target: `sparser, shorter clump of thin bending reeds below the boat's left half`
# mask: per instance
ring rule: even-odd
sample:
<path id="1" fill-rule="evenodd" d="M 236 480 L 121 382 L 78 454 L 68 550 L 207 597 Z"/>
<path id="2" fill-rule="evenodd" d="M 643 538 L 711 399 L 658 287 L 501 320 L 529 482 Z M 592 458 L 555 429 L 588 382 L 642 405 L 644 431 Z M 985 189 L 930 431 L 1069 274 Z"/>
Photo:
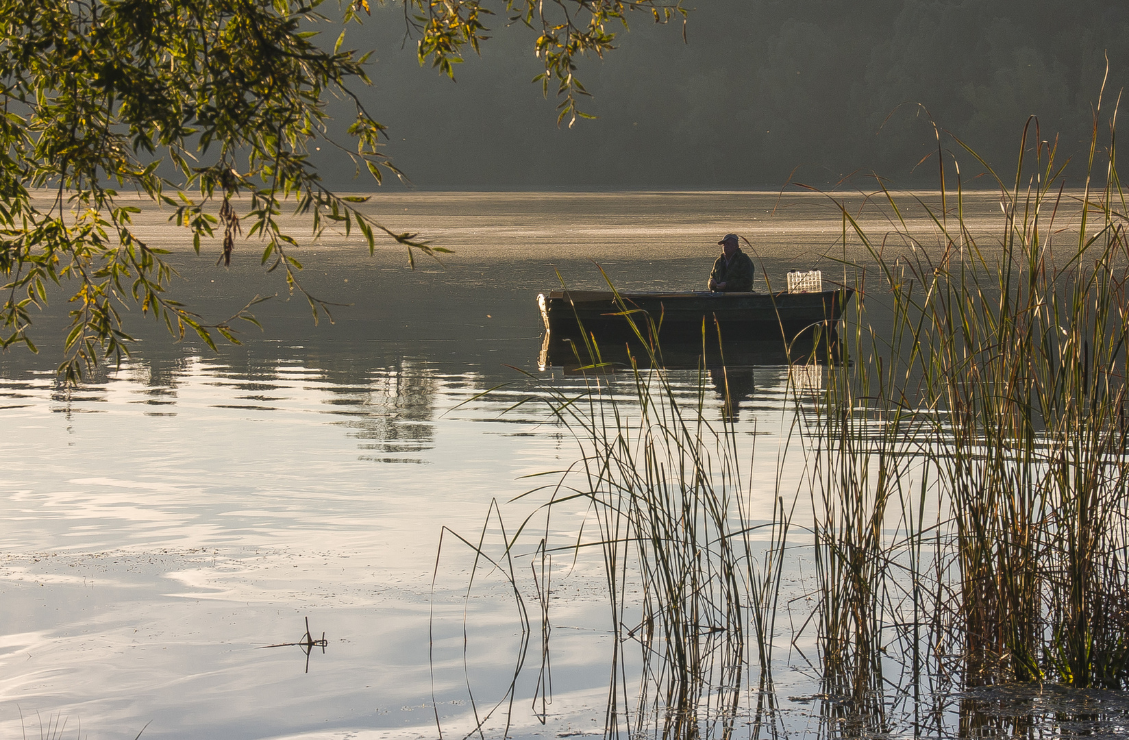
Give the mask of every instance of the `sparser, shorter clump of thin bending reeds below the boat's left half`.
<path id="1" fill-rule="evenodd" d="M 594 354 L 598 359 L 598 346 Z M 557 399 L 553 411 L 583 455 L 549 507 L 587 499 L 616 636 L 627 630 L 644 645 L 644 690 L 633 728 L 625 717 L 628 731 L 656 717 L 663 737 L 694 737 L 717 709 L 728 707 L 720 716 L 732 722 L 741 685 L 742 564 L 750 559 L 742 476 L 728 424 L 716 428 L 706 417 L 704 369 L 688 402 L 655 368 L 654 354 L 647 360 L 651 368 L 631 367 L 630 408 L 598 375 L 584 398 Z"/>

